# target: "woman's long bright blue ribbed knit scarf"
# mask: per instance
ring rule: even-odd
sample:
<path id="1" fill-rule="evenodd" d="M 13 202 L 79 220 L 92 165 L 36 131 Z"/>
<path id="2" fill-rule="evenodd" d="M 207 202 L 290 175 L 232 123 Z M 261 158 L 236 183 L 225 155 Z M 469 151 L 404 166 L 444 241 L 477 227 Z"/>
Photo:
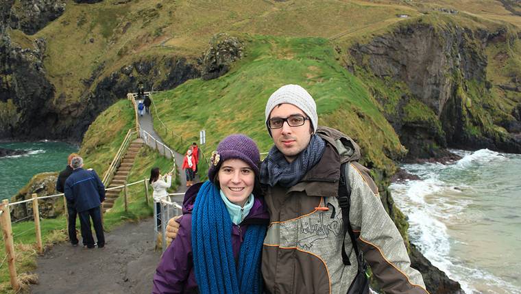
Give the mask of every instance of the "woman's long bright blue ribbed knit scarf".
<path id="1" fill-rule="evenodd" d="M 266 226 L 250 224 L 236 267 L 232 250 L 232 220 L 219 189 L 206 181 L 192 212 L 192 251 L 199 293 L 262 293 L 260 252 Z"/>

